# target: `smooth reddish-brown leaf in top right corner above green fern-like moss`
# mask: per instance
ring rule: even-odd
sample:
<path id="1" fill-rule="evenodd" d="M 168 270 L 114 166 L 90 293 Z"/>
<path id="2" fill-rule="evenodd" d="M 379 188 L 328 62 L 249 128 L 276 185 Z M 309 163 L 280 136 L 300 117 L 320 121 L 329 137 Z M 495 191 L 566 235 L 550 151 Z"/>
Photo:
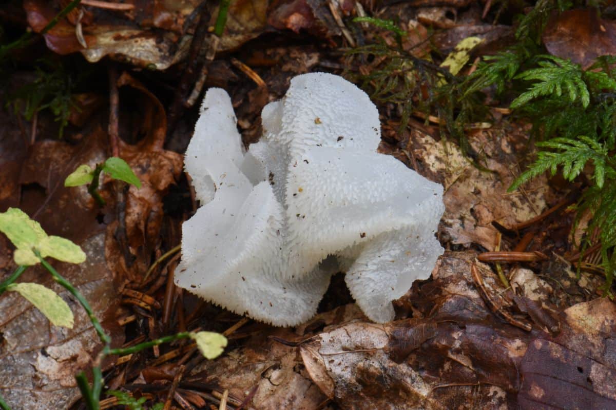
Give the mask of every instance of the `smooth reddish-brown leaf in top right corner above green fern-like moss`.
<path id="1" fill-rule="evenodd" d="M 599 17 L 591 8 L 567 10 L 550 18 L 543 44 L 551 55 L 586 69 L 597 57 L 616 54 L 616 22 Z"/>

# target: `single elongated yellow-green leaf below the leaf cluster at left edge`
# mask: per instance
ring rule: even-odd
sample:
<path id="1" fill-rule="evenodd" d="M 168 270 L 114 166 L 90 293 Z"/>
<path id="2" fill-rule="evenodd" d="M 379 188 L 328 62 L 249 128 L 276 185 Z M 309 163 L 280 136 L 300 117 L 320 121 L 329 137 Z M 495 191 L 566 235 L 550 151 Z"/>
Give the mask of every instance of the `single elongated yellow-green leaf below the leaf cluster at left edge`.
<path id="1" fill-rule="evenodd" d="M 38 283 L 12 283 L 7 290 L 18 292 L 40 310 L 54 326 L 73 328 L 75 317 L 71 308 L 57 293 Z"/>

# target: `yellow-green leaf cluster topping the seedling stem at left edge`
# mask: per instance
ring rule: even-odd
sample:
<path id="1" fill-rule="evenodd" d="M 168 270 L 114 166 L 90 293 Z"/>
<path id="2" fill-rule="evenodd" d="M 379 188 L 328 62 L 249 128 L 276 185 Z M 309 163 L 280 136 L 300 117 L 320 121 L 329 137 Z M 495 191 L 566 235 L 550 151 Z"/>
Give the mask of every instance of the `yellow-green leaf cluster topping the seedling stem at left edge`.
<path id="1" fill-rule="evenodd" d="M 58 259 L 63 262 L 81 263 L 86 260 L 86 254 L 68 239 L 48 236 L 41 225 L 30 219 L 25 212 L 17 208 L 9 208 L 0 213 L 0 232 L 7 235 L 15 245 L 13 258 L 18 265 L 30 266 L 39 262 L 34 249 L 41 257 Z"/>

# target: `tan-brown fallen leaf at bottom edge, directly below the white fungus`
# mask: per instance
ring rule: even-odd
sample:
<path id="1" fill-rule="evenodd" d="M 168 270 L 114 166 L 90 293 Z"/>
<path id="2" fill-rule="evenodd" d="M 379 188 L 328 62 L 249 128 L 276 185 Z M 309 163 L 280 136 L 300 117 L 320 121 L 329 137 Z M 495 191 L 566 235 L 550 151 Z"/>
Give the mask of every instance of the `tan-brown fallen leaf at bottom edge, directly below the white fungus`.
<path id="1" fill-rule="evenodd" d="M 302 365 L 298 347 L 282 344 L 280 340 L 301 343 L 315 336 L 327 326 L 365 320 L 355 304 L 340 306 L 331 312 L 317 315 L 295 331 L 272 328 L 262 324 L 253 329 L 239 349 L 227 352 L 216 360 L 204 361 L 186 376 L 185 380 L 216 385 L 219 391 L 229 389 L 231 396 L 243 400 L 256 389 L 246 408 L 259 410 L 301 409 L 323 407 L 328 398 L 310 379 Z M 278 341 L 271 337 L 276 337 Z"/>

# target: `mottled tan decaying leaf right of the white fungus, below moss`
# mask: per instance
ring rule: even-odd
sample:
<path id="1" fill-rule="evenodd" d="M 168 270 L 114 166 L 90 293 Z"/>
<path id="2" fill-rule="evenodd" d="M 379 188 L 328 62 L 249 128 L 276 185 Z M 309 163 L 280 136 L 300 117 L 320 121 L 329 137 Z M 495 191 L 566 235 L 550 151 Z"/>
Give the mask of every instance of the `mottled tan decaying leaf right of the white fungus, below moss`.
<path id="1" fill-rule="evenodd" d="M 413 144 L 412 151 L 426 165 L 423 175 L 445 186 L 442 224 L 452 243 L 475 242 L 493 250 L 497 233 L 493 221 L 513 226 L 545 209 L 550 200 L 545 177 L 534 179 L 523 190 L 507 192 L 519 175 L 517 153 L 524 149 L 526 138 L 521 133 L 504 135 L 501 130 L 484 130 L 472 136 L 471 144 L 480 152 L 479 164 L 490 170 L 485 171 L 464 157 L 453 141 L 435 141 L 429 135 L 413 131 L 409 144 Z"/>

